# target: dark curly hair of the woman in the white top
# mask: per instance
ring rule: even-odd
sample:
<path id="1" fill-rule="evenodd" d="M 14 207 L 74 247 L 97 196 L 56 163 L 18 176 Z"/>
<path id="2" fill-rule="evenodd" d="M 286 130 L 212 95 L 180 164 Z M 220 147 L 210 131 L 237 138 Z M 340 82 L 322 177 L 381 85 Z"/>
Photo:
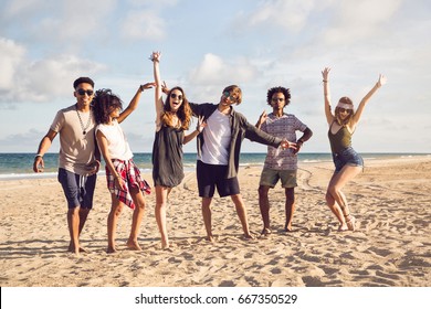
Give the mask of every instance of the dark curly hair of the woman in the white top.
<path id="1" fill-rule="evenodd" d="M 109 107 L 119 107 L 123 110 L 122 99 L 112 93 L 111 89 L 99 89 L 93 99 L 93 111 L 96 124 L 107 124 L 109 121 Z"/>

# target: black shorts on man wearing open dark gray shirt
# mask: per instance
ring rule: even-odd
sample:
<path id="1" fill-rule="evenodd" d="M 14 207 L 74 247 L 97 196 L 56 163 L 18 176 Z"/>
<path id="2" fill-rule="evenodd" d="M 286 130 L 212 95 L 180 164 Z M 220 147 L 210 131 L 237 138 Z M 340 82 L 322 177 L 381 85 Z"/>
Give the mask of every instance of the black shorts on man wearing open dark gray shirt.
<path id="1" fill-rule="evenodd" d="M 200 198 L 212 198 L 216 187 L 220 198 L 240 194 L 238 178 L 225 178 L 228 166 L 207 164 L 198 160 L 196 171 Z"/>

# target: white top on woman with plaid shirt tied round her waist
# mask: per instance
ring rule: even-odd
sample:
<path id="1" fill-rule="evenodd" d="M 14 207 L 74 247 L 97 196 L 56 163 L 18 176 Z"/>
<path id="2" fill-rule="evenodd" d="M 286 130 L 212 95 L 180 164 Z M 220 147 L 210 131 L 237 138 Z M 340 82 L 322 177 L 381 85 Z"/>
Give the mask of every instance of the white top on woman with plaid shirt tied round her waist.
<path id="1" fill-rule="evenodd" d="M 112 125 L 99 124 L 96 127 L 107 139 L 111 159 L 129 160 L 134 156 L 128 146 L 126 136 L 116 119 Z"/>

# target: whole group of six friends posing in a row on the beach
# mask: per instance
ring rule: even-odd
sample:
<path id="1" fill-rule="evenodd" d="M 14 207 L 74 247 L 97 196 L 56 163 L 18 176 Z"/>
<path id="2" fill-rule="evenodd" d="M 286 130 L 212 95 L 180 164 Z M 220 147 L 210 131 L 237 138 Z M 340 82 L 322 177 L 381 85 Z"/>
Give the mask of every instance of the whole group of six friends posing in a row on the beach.
<path id="1" fill-rule="evenodd" d="M 126 108 L 123 100 L 111 89 L 95 92 L 90 77 L 80 77 L 73 83 L 76 103 L 57 111 L 48 134 L 42 138 L 34 158 L 34 172 L 43 172 L 43 156 L 54 138 L 60 135 L 57 179 L 67 201 L 69 251 L 75 254 L 85 249 L 80 245 L 88 213 L 93 207 L 93 195 L 102 157 L 105 162 L 107 188 L 112 206 L 107 219 L 107 253 L 117 252 L 115 235 L 118 217 L 124 205 L 133 210 L 132 228 L 127 239 L 129 249 L 140 251 L 139 227 L 143 222 L 145 195 L 156 192 L 155 216 L 161 237 L 161 248 L 169 247 L 167 232 L 167 207 L 170 191 L 185 178 L 182 145 L 197 138 L 197 181 L 201 198 L 202 217 L 207 239 L 214 241 L 211 224 L 211 202 L 216 189 L 221 198 L 230 196 L 242 225 L 245 238 L 254 238 L 250 232 L 246 207 L 240 193 L 238 180 L 241 143 L 244 138 L 267 145 L 259 183 L 259 205 L 263 221 L 261 235 L 271 234 L 269 191 L 280 181 L 285 190 L 285 232 L 292 232 L 295 211 L 295 187 L 297 153 L 313 131 L 296 116 L 286 114 L 291 103 L 288 88 L 277 86 L 267 90 L 266 103 L 272 113 L 265 111 L 255 126 L 233 109 L 242 102 L 241 88 L 225 87 L 218 104 L 196 104 L 187 99 L 185 90 L 176 86 L 169 89 L 160 77 L 160 52 L 150 56 L 154 82 L 140 85 Z M 326 202 L 339 222 L 338 231 L 355 231 L 356 220 L 351 215 L 343 188 L 362 171 L 364 161 L 353 148 L 351 136 L 370 97 L 386 83 L 380 75 L 378 82 L 361 99 L 357 109 L 350 98 L 341 97 L 332 110 L 329 72 L 322 72 L 325 115 L 335 171 L 329 181 Z M 133 152 L 119 126 L 138 106 L 141 94 L 155 88 L 156 132 L 153 146 L 154 188 L 143 179 L 133 161 Z M 164 99 L 164 94 L 166 98 Z M 190 132 L 192 117 L 196 129 Z M 296 139 L 296 131 L 302 136 Z"/>

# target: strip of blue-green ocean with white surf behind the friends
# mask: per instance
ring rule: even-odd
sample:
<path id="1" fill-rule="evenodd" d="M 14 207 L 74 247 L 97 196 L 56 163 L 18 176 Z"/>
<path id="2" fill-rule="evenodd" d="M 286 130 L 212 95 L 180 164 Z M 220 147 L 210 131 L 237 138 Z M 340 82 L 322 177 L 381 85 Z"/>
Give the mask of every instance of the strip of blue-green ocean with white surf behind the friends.
<path id="1" fill-rule="evenodd" d="M 397 159 L 416 156 L 427 156 L 428 153 L 361 153 L 364 160 L 374 159 Z M 196 153 L 185 153 L 183 166 L 186 171 L 193 171 L 196 167 Z M 240 166 L 263 166 L 266 153 L 241 153 Z M 430 154 L 428 154 L 430 156 Z M 0 153 L 0 180 L 14 179 L 36 179 L 36 178 L 54 178 L 57 172 L 57 153 L 46 153 L 43 159 L 45 162 L 45 171 L 43 173 L 33 172 L 34 153 Z M 141 172 L 149 173 L 151 171 L 151 153 L 137 152 L 134 153 L 134 161 L 139 167 Z M 330 153 L 298 153 L 298 166 L 301 163 L 325 162 L 332 161 Z M 102 162 L 103 163 L 103 162 Z M 104 173 L 104 163 L 101 169 Z"/>

